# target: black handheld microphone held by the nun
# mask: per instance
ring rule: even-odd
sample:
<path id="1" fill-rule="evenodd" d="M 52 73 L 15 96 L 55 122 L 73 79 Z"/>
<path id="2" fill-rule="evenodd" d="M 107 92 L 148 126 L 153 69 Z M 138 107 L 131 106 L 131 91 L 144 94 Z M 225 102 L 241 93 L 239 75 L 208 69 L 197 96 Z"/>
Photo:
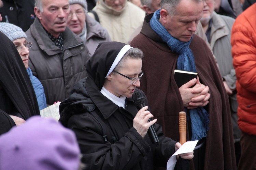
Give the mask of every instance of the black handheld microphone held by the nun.
<path id="1" fill-rule="evenodd" d="M 145 98 L 143 97 L 143 94 L 141 92 L 135 92 L 133 93 L 132 95 L 132 100 L 133 100 L 133 103 L 134 105 L 137 107 L 138 111 L 145 107 Z M 150 119 L 147 121 L 147 122 L 150 122 Z M 156 131 L 155 131 L 155 128 L 153 125 L 151 125 L 149 128 L 148 128 L 148 134 L 151 138 L 151 141 L 152 143 L 157 143 L 159 142 L 159 139 L 158 139 L 158 136 L 156 134 Z"/>

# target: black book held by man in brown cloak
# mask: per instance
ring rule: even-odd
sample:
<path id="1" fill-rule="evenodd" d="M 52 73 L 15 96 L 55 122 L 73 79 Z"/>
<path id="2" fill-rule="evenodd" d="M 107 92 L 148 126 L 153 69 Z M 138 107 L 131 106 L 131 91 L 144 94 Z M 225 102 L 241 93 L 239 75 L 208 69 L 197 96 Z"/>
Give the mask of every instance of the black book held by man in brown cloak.
<path id="1" fill-rule="evenodd" d="M 183 84 L 186 84 L 193 78 L 197 78 L 197 76 L 198 74 L 196 72 L 190 72 L 190 71 L 179 70 L 179 69 L 174 70 L 174 79 L 176 81 L 178 88 L 180 88 Z"/>

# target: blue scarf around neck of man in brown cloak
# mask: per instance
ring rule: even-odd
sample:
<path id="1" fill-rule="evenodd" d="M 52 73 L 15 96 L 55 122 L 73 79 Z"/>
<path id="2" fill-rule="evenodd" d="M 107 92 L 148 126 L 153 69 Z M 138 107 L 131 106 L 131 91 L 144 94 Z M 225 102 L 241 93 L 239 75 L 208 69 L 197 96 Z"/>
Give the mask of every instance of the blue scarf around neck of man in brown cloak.
<path id="1" fill-rule="evenodd" d="M 165 27 L 162 26 L 159 22 L 159 18 L 160 10 L 157 10 L 150 20 L 150 27 L 162 38 L 163 42 L 167 43 L 172 51 L 178 53 L 177 68 L 197 72 L 194 55 L 189 48 L 193 37 L 191 37 L 188 42 L 177 40 L 165 29 Z M 206 137 L 207 131 L 209 130 L 208 123 L 210 122 L 208 112 L 203 107 L 199 107 L 190 109 L 189 113 L 192 127 L 191 140 L 200 140 L 203 137 Z"/>

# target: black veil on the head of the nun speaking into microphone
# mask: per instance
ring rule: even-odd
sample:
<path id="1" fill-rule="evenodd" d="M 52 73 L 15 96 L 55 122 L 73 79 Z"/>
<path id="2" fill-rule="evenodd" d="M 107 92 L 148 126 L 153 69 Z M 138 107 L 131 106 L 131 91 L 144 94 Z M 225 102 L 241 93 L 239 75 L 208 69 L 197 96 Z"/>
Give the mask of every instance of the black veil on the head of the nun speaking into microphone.
<path id="1" fill-rule="evenodd" d="M 99 90 L 102 89 L 105 76 L 108 74 L 115 58 L 125 45 L 120 42 L 100 43 L 94 55 L 85 63 L 88 76 L 94 80 Z"/>

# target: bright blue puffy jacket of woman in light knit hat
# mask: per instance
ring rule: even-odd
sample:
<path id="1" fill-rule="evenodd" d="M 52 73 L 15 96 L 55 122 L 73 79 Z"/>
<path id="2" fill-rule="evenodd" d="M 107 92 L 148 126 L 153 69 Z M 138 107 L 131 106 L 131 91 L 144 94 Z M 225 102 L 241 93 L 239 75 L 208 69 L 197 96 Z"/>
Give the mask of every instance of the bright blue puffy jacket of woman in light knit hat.
<path id="1" fill-rule="evenodd" d="M 42 109 L 46 108 L 46 99 L 45 99 L 45 95 L 44 95 L 44 88 L 43 88 L 41 82 L 38 80 L 38 78 L 33 76 L 30 68 L 27 69 L 27 72 L 28 72 L 29 78 L 32 82 L 32 85 L 33 85 L 33 88 L 35 91 L 35 95 L 37 96 L 39 110 L 42 110 Z"/>

